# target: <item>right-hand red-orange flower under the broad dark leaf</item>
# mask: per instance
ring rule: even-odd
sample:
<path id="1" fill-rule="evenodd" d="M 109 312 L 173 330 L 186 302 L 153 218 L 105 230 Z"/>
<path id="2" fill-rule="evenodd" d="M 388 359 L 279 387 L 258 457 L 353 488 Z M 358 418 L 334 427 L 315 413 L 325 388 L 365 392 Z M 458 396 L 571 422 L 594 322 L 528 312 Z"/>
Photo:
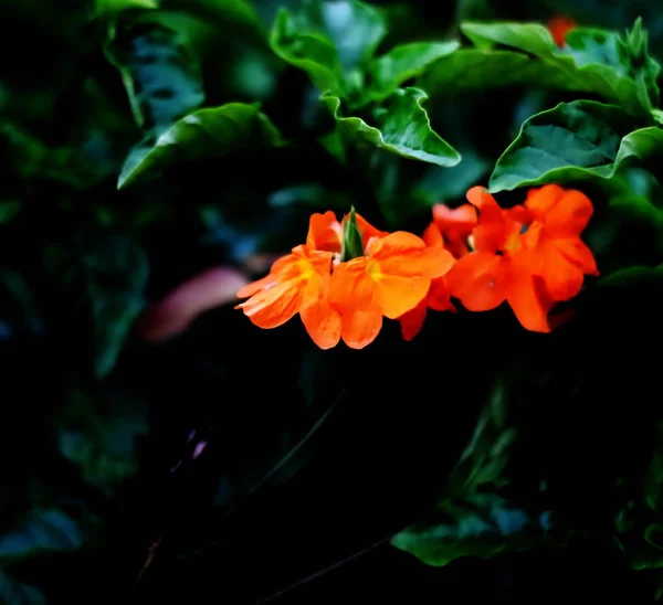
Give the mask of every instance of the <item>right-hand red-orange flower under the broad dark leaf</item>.
<path id="1" fill-rule="evenodd" d="M 472 188 L 467 200 L 480 211 L 475 252 L 450 272 L 451 295 L 471 311 L 506 300 L 523 327 L 549 332 L 555 302 L 578 293 L 583 273 L 596 274 L 591 251 L 579 238 L 591 202 L 557 185 L 530 191 L 524 206 L 509 210 L 502 210 L 481 187 Z"/>

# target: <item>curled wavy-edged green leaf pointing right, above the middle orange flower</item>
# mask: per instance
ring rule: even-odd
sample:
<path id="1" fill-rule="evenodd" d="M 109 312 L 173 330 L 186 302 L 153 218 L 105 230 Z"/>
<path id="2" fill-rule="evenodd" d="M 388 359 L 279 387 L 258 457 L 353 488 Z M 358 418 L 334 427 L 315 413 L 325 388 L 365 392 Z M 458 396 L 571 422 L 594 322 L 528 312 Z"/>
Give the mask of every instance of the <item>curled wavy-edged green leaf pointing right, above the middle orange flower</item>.
<path id="1" fill-rule="evenodd" d="M 461 161 L 461 155 L 435 134 L 425 109 L 428 98 L 419 88 L 402 88 L 390 95 L 372 113 L 370 124 L 358 117 L 344 116 L 341 100 L 326 95 L 323 102 L 329 107 L 337 127 L 351 141 L 361 141 L 392 153 L 436 166 L 450 167 Z"/>

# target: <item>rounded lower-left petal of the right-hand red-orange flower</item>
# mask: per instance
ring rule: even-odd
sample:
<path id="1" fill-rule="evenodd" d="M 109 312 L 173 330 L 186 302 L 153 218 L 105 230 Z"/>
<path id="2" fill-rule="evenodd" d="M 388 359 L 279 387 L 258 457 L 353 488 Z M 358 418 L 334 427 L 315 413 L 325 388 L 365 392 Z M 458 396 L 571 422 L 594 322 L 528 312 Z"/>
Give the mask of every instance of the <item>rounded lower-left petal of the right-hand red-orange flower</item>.
<path id="1" fill-rule="evenodd" d="M 472 252 L 460 258 L 446 275 L 451 296 L 470 311 L 487 311 L 506 298 L 509 275 L 504 257 Z"/>

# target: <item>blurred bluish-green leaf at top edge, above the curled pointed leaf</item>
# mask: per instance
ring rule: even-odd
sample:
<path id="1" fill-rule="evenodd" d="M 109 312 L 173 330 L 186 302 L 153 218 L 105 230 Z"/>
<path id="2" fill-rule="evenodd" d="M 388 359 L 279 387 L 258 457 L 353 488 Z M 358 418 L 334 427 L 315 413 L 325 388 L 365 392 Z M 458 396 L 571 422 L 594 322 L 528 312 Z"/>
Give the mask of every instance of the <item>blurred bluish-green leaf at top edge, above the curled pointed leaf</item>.
<path id="1" fill-rule="evenodd" d="M 368 4 L 308 0 L 296 14 L 280 10 L 270 45 L 320 91 L 345 97 L 356 87 L 356 68 L 371 57 L 385 34 L 381 15 Z"/>

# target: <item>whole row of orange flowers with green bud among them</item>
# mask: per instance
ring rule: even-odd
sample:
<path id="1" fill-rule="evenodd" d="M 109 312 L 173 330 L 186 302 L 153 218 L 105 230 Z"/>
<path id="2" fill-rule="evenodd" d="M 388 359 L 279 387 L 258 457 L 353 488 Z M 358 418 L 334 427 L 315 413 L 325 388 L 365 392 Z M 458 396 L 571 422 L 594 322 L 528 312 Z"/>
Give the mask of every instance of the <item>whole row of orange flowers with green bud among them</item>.
<path id="1" fill-rule="evenodd" d="M 278 258 L 270 274 L 243 287 L 238 305 L 261 328 L 299 314 L 322 349 L 344 342 L 362 349 L 398 319 L 406 340 L 421 330 L 428 309 L 471 311 L 506 301 L 528 330 L 549 332 L 549 311 L 576 296 L 583 276 L 598 275 L 580 240 L 592 214 L 579 191 L 545 185 L 523 205 L 501 209 L 483 188 L 470 204 L 433 208 L 422 237 L 378 231 L 352 210 L 311 217 L 306 244 Z"/>

